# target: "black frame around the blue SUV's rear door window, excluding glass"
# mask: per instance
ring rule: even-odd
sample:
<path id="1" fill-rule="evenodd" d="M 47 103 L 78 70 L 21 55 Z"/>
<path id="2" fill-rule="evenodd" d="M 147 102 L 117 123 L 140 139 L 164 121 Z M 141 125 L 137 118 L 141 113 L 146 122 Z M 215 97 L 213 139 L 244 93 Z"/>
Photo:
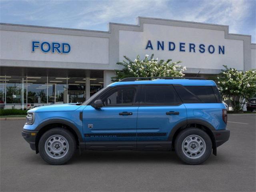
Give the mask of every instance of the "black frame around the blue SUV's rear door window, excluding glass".
<path id="1" fill-rule="evenodd" d="M 148 105 L 148 104 L 143 104 L 143 99 L 142 99 L 142 97 L 143 97 L 143 94 L 144 94 L 144 90 L 143 90 L 143 88 L 145 87 L 145 86 L 170 86 L 170 87 L 172 87 L 173 88 L 173 91 L 176 93 L 176 95 L 178 96 L 178 98 L 180 99 L 180 103 L 178 103 L 178 104 L 156 104 L 156 105 Z M 173 84 L 142 84 L 141 85 L 141 90 L 140 90 L 140 95 L 139 95 L 139 106 L 143 106 L 143 107 L 153 107 L 153 106 L 180 106 L 180 105 L 182 105 L 183 104 L 183 101 L 182 101 L 182 99 L 180 98 L 180 96 L 179 96 L 179 94 L 178 94 L 178 92 L 176 91 L 176 89 L 174 88 L 174 86 L 173 86 Z"/>

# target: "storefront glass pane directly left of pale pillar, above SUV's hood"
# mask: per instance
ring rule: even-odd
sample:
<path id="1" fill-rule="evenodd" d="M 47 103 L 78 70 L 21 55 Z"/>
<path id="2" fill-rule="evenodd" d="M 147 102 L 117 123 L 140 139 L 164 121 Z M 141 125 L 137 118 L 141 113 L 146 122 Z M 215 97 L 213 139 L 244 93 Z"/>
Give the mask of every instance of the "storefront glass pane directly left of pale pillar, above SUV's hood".
<path id="1" fill-rule="evenodd" d="M 86 78 L 68 78 L 68 102 L 82 103 L 86 100 Z"/>

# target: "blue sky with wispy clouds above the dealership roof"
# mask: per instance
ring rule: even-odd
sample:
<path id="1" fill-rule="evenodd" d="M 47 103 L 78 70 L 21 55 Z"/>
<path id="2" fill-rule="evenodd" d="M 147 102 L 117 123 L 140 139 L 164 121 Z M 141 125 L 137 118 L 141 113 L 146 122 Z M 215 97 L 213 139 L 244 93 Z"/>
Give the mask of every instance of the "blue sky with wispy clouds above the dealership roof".
<path id="1" fill-rule="evenodd" d="M 0 22 L 108 31 L 153 17 L 229 26 L 256 43 L 256 0 L 0 0 Z"/>

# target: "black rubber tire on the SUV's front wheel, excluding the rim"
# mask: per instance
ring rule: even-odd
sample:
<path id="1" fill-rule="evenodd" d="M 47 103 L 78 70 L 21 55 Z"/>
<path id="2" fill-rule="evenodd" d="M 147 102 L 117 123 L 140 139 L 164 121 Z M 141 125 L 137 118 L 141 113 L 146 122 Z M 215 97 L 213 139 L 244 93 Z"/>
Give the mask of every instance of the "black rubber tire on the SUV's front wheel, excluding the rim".
<path id="1" fill-rule="evenodd" d="M 67 151 L 65 152 L 65 156 L 63 156 L 62 158 L 58 158 L 58 159 L 52 158 L 46 152 L 45 143 L 50 136 L 54 136 L 54 135 L 63 136 L 66 139 L 66 141 L 68 142 Z M 76 139 L 75 139 L 74 135 L 69 130 L 67 130 L 65 128 L 52 128 L 52 129 L 46 131 L 41 136 L 39 143 L 38 143 L 38 150 L 39 150 L 40 156 L 43 158 L 43 160 L 45 160 L 49 164 L 62 165 L 62 164 L 65 164 L 66 162 L 68 162 L 74 156 L 74 154 L 76 152 Z"/>

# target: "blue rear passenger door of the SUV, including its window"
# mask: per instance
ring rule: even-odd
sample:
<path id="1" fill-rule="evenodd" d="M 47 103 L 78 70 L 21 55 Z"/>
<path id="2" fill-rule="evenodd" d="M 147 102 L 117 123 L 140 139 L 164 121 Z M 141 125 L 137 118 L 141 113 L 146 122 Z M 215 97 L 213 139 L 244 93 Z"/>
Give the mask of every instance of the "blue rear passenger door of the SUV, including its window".
<path id="1" fill-rule="evenodd" d="M 137 120 L 137 148 L 170 148 L 172 128 L 186 120 L 186 108 L 172 85 L 143 85 Z"/>

